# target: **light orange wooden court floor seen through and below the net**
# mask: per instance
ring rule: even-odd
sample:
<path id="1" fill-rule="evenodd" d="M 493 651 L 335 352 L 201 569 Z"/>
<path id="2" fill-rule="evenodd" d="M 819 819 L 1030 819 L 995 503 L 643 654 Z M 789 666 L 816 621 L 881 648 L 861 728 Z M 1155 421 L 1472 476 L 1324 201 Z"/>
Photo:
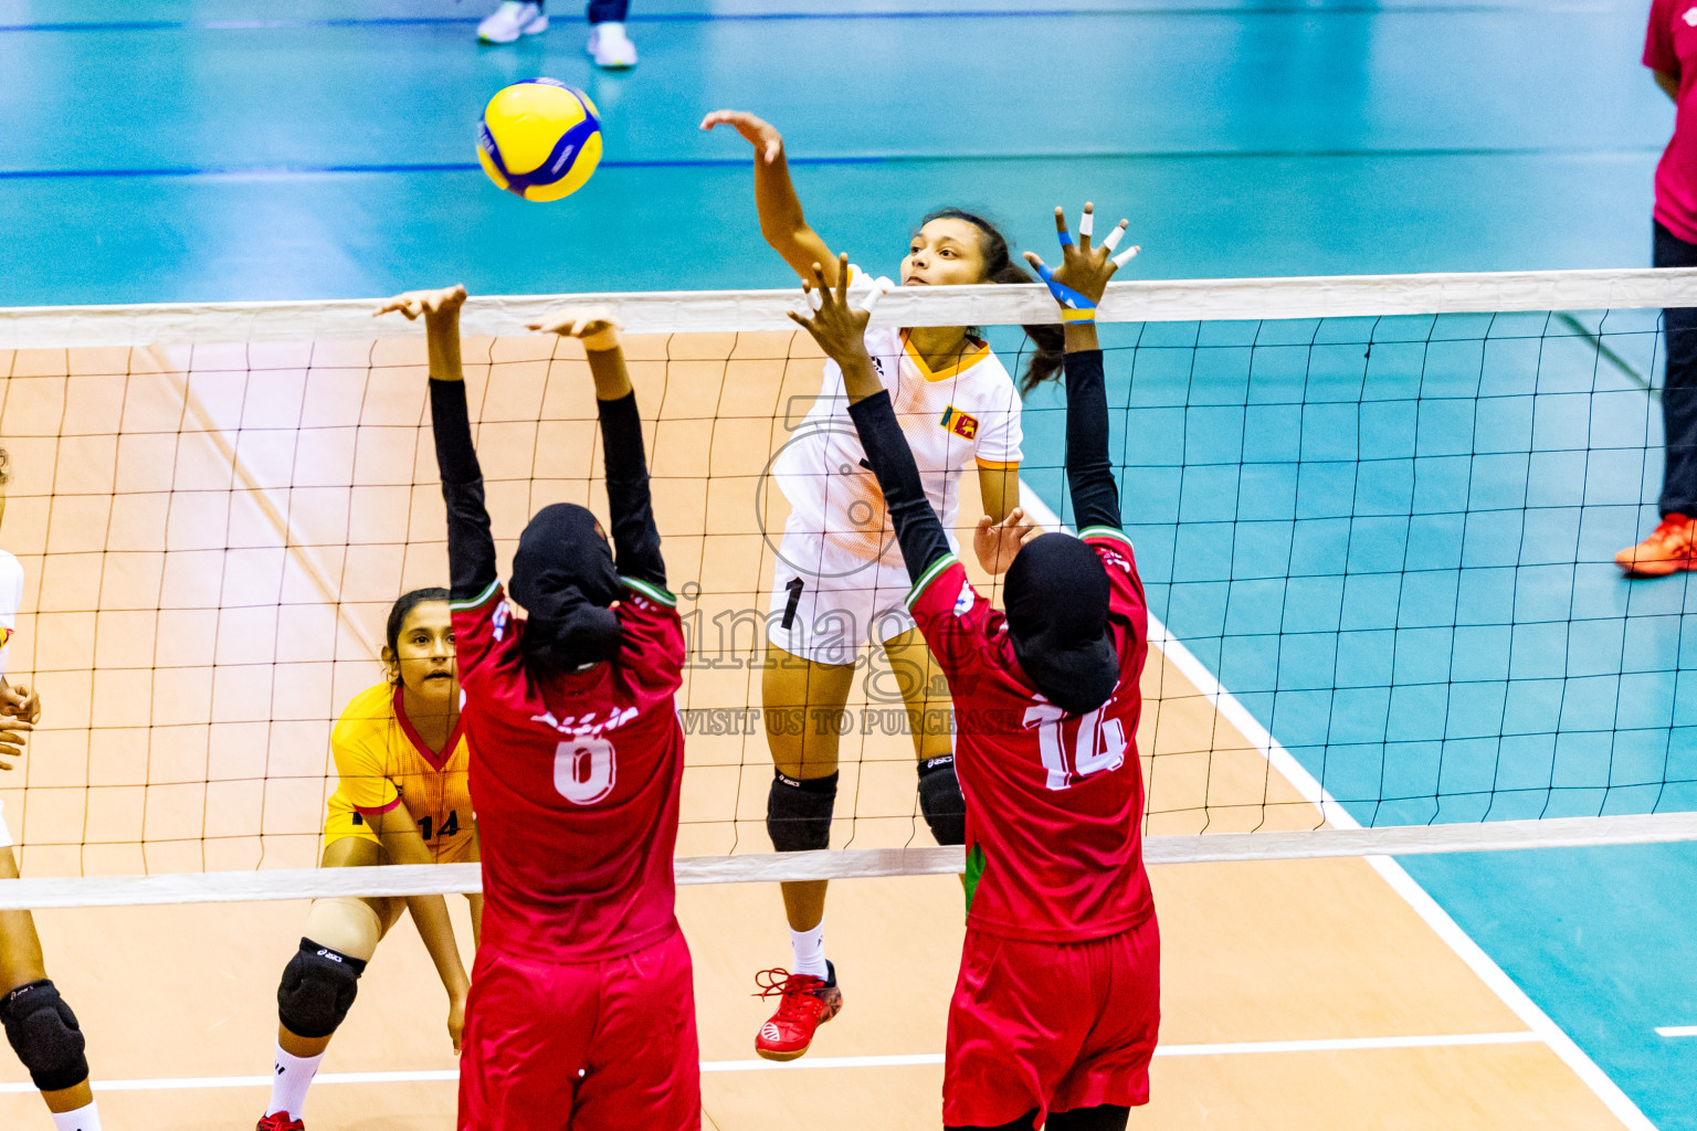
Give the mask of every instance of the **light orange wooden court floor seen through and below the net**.
<path id="1" fill-rule="evenodd" d="M 0 543 L 29 575 L 14 670 L 37 673 L 48 704 L 27 788 L 0 794 L 25 873 L 312 860 L 333 787 L 329 721 L 377 678 L 389 599 L 443 573 L 414 346 L 0 354 L 15 473 Z M 731 629 L 713 656 L 723 663 L 692 666 L 682 705 L 742 709 L 759 702 L 759 671 L 736 614 L 764 607 L 762 527 L 782 521 L 776 492 L 757 488 L 816 390 L 818 359 L 782 334 L 648 339 L 631 353 L 697 658 L 709 632 Z M 553 499 L 599 505 L 582 363 L 529 339 L 468 343 L 467 356 L 489 358 L 470 378 L 497 534 L 511 539 Z M 1174 663 L 1154 658 L 1144 694 L 1152 833 L 1319 822 Z M 881 710 L 871 678 L 850 709 Z M 911 748 L 865 729 L 843 744 L 854 804 L 833 844 L 908 843 L 923 829 Z M 692 738 L 680 851 L 764 851 L 769 773 L 759 733 Z M 1492 972 L 1371 861 L 1164 866 L 1154 885 L 1162 1051 L 1134 1126 L 1621 1124 Z M 752 975 L 787 960 L 777 892 L 684 889 L 679 916 L 696 956 L 704 1126 L 938 1126 L 962 934 L 954 878 L 835 885 L 826 948 L 847 1006 L 784 1068 L 752 1056 L 767 1014 Z M 88 1031 L 109 1128 L 258 1117 L 277 977 L 304 921 L 300 902 L 39 916 L 49 968 Z M 331 1046 L 309 1126 L 450 1126 L 443 1006 L 400 924 Z M 0 1126 L 48 1126 L 8 1056 L 0 1082 Z"/>

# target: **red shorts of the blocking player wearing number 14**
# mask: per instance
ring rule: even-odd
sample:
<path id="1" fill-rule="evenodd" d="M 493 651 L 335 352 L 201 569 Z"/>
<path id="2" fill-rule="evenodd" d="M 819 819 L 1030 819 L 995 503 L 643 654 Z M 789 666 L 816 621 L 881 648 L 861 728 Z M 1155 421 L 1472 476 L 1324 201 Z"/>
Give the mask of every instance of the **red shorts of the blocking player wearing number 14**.
<path id="1" fill-rule="evenodd" d="M 1149 1102 L 1161 1024 L 1154 917 L 1089 943 L 1027 943 L 967 928 L 949 1004 L 944 1123 L 996 1128 Z"/>

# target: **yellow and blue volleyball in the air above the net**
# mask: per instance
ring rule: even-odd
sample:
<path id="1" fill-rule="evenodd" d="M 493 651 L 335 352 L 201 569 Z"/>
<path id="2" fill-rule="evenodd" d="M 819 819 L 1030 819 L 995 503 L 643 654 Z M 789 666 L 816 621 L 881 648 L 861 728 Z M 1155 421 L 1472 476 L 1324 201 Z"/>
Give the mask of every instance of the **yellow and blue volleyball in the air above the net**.
<path id="1" fill-rule="evenodd" d="M 514 197 L 570 197 L 601 164 L 601 115 L 582 90 L 528 78 L 484 107 L 477 159 L 489 180 Z"/>

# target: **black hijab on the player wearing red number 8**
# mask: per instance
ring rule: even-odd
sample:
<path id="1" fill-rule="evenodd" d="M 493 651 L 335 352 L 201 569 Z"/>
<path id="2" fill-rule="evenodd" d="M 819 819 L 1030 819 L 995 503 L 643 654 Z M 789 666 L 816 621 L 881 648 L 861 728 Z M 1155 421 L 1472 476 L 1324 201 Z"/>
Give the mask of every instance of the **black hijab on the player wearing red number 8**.
<path id="1" fill-rule="evenodd" d="M 611 660 L 623 629 L 611 605 L 619 599 L 613 548 L 596 515 L 568 502 L 536 512 L 512 556 L 512 597 L 524 605 L 524 653 L 555 671 Z"/>

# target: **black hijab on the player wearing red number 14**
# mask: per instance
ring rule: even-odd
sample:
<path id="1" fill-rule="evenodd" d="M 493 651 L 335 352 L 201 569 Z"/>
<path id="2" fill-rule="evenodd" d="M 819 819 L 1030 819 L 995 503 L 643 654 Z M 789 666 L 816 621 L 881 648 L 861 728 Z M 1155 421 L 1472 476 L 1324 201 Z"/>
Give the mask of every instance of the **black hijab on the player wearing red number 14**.
<path id="1" fill-rule="evenodd" d="M 1015 554 L 1003 600 L 1013 655 L 1049 702 L 1088 714 L 1120 683 L 1108 641 L 1108 571 L 1069 534 L 1042 534 Z"/>

